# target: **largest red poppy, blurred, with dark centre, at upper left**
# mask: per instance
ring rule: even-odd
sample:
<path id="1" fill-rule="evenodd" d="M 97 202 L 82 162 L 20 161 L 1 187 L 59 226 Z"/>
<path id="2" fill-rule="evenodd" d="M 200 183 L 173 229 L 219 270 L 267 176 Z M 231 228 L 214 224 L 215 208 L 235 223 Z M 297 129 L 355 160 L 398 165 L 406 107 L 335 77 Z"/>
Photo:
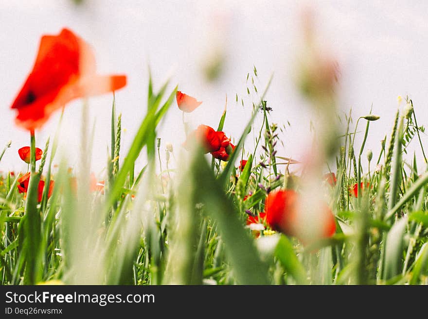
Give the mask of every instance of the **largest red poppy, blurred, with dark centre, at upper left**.
<path id="1" fill-rule="evenodd" d="M 42 36 L 33 69 L 11 108 L 17 110 L 16 123 L 32 131 L 69 101 L 118 90 L 125 84 L 125 75 L 96 74 L 89 45 L 63 29 L 58 35 Z"/>

